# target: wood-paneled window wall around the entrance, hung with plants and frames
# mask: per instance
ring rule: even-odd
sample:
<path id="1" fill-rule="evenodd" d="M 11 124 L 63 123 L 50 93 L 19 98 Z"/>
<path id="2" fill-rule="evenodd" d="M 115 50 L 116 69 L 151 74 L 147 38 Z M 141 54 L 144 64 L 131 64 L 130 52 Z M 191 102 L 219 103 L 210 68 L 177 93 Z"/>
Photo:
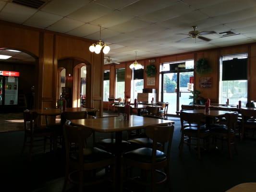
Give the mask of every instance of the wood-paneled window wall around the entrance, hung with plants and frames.
<path id="1" fill-rule="evenodd" d="M 212 102 L 219 102 L 219 58 L 223 55 L 231 55 L 231 54 L 239 54 L 239 53 L 248 53 L 248 100 L 256 100 L 256 89 L 254 88 L 254 84 L 256 84 L 256 43 L 251 44 L 243 44 L 231 47 L 223 47 L 223 48 L 214 48 L 214 49 L 207 49 L 207 50 L 200 50 L 195 52 L 183 53 L 183 54 L 176 54 L 158 58 L 149 58 L 145 60 L 140 60 L 140 63 L 144 64 L 144 69 L 146 66 L 149 65 L 149 60 L 156 60 L 155 65 L 157 67 L 157 75 L 156 75 L 156 84 L 155 86 L 147 86 L 146 85 L 146 72 L 144 72 L 144 88 L 154 88 L 159 91 L 159 67 L 164 62 L 173 62 L 173 61 L 182 61 L 182 60 L 192 60 L 195 61 L 200 58 L 206 58 L 209 64 L 212 67 L 212 72 L 208 74 L 204 74 L 202 76 L 205 77 L 212 77 L 212 87 L 211 88 L 200 88 L 199 87 L 199 79 L 200 76 L 196 73 L 195 74 L 195 85 L 194 88 L 201 92 L 200 96 L 204 98 L 210 98 Z M 120 65 L 105 65 L 104 69 L 115 69 L 117 66 L 121 66 L 126 68 L 126 79 L 125 79 L 125 93 L 126 96 L 130 96 L 130 89 L 131 89 L 131 70 L 129 65 L 133 61 L 123 62 Z M 114 71 L 110 70 L 110 93 L 114 93 L 114 81 L 115 76 L 113 75 Z M 129 86 L 130 85 L 130 86 Z M 114 96 L 114 95 L 111 95 Z M 158 98 L 158 100 L 160 100 Z M 104 108 L 107 107 L 107 104 L 104 104 Z"/>

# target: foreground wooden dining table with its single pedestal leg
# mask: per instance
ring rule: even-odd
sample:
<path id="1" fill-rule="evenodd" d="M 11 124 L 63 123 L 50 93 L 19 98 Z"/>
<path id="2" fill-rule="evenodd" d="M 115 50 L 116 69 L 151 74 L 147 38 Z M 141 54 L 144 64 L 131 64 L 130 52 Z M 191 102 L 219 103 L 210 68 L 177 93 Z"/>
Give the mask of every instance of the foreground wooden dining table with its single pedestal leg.
<path id="1" fill-rule="evenodd" d="M 91 128 L 95 132 L 115 132 L 115 146 L 117 157 L 116 161 L 116 191 L 122 191 L 121 183 L 121 162 L 122 149 L 120 148 L 122 142 L 122 132 L 146 128 L 149 125 L 161 125 L 165 123 L 172 123 L 172 120 L 161 120 L 155 118 L 147 118 L 142 116 L 131 115 L 129 120 L 119 120 L 119 117 L 98 118 L 98 119 L 83 119 L 71 120 L 74 125 Z"/>

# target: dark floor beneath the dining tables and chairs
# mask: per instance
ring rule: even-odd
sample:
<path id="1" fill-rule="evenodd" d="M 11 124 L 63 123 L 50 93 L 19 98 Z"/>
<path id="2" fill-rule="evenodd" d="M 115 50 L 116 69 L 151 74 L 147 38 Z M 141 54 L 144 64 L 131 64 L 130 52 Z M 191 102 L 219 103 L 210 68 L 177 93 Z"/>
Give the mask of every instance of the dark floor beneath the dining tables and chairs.
<path id="1" fill-rule="evenodd" d="M 173 192 L 224 192 L 234 185 L 243 182 L 256 182 L 256 141 L 246 139 L 238 141 L 238 154 L 228 158 L 227 147 L 223 151 L 211 150 L 202 154 L 199 161 L 195 150 L 189 152 L 184 146 L 183 158 L 179 157 L 180 120 L 175 121 L 175 130 L 171 148 L 171 185 Z M 1 124 L 1 123 L 0 123 Z M 109 137 L 108 134 L 98 134 L 97 138 Z M 27 161 L 26 154 L 21 155 L 24 133 L 0 133 L 0 191 L 26 192 L 61 192 L 64 177 L 65 158 L 60 150 L 57 154 L 42 153 L 42 147 L 35 148 L 33 160 Z M 41 145 L 42 146 L 42 145 Z M 77 191 L 72 185 L 70 192 Z M 131 187 L 130 185 L 128 185 Z M 109 189 L 109 190 L 108 190 Z M 134 191 L 150 191 L 148 188 L 135 188 Z M 111 191 L 105 185 L 86 188 L 86 191 Z M 158 191 L 167 192 L 166 185 L 161 185 Z"/>

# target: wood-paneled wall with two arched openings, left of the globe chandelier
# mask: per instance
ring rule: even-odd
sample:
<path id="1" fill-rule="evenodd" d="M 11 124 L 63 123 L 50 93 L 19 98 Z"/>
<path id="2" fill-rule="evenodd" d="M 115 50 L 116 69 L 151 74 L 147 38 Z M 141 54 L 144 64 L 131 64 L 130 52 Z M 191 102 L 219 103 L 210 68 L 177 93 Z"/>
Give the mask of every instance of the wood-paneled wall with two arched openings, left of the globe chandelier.
<path id="1" fill-rule="evenodd" d="M 37 108 L 53 107 L 57 99 L 58 60 L 78 58 L 90 64 L 89 106 L 102 112 L 103 54 L 89 51 L 93 41 L 34 27 L 0 21 L 0 48 L 26 52 L 37 60 L 35 101 Z M 102 74 L 102 75 L 94 75 Z"/>

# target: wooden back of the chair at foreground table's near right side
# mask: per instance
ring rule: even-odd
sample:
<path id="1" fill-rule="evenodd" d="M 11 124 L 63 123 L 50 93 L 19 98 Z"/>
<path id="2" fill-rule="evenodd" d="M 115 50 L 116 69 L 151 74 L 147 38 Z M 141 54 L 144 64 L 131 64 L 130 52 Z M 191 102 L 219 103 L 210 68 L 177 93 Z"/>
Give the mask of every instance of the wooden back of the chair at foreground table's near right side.
<path id="1" fill-rule="evenodd" d="M 146 136 L 153 140 L 152 147 L 152 163 L 156 162 L 157 143 L 168 143 L 167 147 L 167 162 L 169 162 L 171 153 L 171 143 L 174 132 L 174 126 L 171 123 L 166 123 L 161 126 L 147 126 L 145 128 Z"/>

